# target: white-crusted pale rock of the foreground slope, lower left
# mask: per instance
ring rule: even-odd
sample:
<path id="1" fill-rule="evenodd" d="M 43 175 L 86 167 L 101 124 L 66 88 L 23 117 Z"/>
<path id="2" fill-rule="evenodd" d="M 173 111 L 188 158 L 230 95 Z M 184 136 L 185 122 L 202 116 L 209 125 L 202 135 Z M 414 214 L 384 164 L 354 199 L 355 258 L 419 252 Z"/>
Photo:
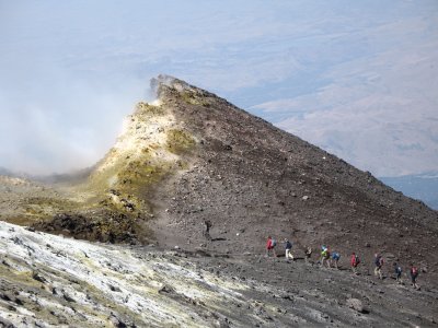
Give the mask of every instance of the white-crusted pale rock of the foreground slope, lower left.
<path id="1" fill-rule="evenodd" d="M 227 325 L 228 313 L 249 301 L 239 293 L 246 286 L 200 273 L 175 255 L 93 245 L 0 222 L 0 324 Z"/>

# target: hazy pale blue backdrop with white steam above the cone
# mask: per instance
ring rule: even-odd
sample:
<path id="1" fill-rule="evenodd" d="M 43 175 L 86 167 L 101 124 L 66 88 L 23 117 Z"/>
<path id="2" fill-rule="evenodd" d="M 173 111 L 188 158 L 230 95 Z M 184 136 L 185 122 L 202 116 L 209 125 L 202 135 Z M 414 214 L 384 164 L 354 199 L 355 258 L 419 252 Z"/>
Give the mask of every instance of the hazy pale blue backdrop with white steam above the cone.
<path id="1" fill-rule="evenodd" d="M 0 0 L 0 167 L 93 165 L 174 75 L 377 176 L 438 172 L 438 1 Z"/>

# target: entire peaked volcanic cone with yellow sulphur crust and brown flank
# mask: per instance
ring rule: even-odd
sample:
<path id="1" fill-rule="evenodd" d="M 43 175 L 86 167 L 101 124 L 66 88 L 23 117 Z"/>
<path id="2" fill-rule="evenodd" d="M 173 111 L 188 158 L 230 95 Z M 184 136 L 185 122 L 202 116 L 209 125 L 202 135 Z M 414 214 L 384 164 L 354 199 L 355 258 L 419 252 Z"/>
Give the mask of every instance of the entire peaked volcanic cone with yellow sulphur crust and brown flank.
<path id="1" fill-rule="evenodd" d="M 436 211 L 207 91 L 162 75 L 151 83 L 158 99 L 137 105 L 88 179 L 39 186 L 2 219 L 90 241 L 238 254 L 263 251 L 272 234 L 369 261 L 380 251 L 437 277 Z"/>

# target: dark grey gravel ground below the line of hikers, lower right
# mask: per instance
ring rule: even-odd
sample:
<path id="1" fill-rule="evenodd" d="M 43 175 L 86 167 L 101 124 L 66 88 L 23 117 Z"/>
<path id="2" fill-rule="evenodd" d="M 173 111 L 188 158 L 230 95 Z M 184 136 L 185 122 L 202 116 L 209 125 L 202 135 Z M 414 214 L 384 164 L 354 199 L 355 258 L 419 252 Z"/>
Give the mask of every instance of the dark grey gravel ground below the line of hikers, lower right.
<path id="1" fill-rule="evenodd" d="M 345 263 L 339 269 L 326 268 L 315 260 L 306 263 L 300 257 L 287 262 L 284 257 L 215 254 L 200 248 L 177 249 L 174 255 L 187 258 L 199 270 L 250 285 L 243 292 L 245 297 L 260 300 L 256 314 L 262 321 L 255 327 L 268 327 L 275 321 L 286 327 L 438 325 L 437 285 L 423 284 L 419 291 L 415 290 L 407 274 L 397 284 L 392 274 L 385 274 L 383 280 L 373 277 L 371 267 L 365 263 L 355 276 Z M 270 314 L 265 311 L 265 302 L 275 304 Z"/>

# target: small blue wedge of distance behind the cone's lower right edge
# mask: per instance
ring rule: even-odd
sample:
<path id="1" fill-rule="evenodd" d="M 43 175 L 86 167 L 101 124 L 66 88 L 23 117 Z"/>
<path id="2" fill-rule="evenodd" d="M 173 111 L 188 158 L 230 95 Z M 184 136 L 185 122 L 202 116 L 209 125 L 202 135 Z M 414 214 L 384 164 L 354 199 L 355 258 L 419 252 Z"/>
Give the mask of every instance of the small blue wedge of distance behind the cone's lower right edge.
<path id="1" fill-rule="evenodd" d="M 438 210 L 438 173 L 381 177 L 380 179 L 405 196 L 422 200 L 430 208 Z"/>

